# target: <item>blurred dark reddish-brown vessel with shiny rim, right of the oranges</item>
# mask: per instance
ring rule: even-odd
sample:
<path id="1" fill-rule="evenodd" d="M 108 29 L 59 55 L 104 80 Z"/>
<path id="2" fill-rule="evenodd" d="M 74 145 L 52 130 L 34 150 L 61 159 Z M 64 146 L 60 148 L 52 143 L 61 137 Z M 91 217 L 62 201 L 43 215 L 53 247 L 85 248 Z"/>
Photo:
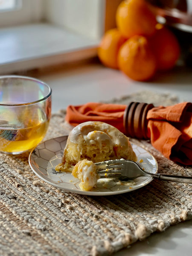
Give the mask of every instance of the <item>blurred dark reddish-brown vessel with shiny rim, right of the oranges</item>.
<path id="1" fill-rule="evenodd" d="M 169 27 L 181 47 L 183 64 L 192 67 L 192 0 L 147 0 L 157 21 Z"/>

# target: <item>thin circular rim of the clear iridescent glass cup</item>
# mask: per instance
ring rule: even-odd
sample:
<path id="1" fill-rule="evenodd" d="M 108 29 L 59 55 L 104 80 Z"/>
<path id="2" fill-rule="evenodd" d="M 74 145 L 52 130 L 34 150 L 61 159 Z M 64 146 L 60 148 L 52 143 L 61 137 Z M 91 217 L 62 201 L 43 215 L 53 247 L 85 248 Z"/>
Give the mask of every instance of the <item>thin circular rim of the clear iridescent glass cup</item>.
<path id="1" fill-rule="evenodd" d="M 33 78 L 33 77 L 30 77 L 30 76 L 17 76 L 17 75 L 5 75 L 5 76 L 0 76 L 0 80 L 1 79 L 6 79 L 6 78 L 18 78 L 18 79 L 26 79 L 26 80 L 31 80 L 31 81 L 35 81 L 35 82 L 39 82 L 41 84 L 44 84 L 48 89 L 49 89 L 49 92 L 47 93 L 47 95 L 45 97 L 43 97 L 42 99 L 38 99 L 36 101 L 33 101 L 33 102 L 27 102 L 27 103 L 19 103 L 19 104 L 3 104 L 3 103 L 0 103 L 0 106 L 24 106 L 24 105 L 32 105 L 32 104 L 35 104 L 35 103 L 38 103 L 38 102 L 41 102 L 41 101 L 44 101 L 45 99 L 49 98 L 49 96 L 51 96 L 51 93 L 52 93 L 52 89 L 51 87 L 46 84 L 45 82 L 39 80 L 39 79 L 36 79 L 36 78 Z"/>

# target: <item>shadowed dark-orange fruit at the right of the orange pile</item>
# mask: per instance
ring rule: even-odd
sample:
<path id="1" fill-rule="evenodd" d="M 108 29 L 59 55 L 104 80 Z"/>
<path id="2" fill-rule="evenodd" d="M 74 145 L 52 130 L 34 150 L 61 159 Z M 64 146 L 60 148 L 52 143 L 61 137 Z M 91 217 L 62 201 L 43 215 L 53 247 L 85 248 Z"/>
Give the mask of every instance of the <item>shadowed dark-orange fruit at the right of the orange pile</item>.
<path id="1" fill-rule="evenodd" d="M 157 24 L 156 29 L 150 44 L 157 59 L 157 69 L 170 70 L 180 56 L 179 42 L 173 32 L 162 24 Z"/>

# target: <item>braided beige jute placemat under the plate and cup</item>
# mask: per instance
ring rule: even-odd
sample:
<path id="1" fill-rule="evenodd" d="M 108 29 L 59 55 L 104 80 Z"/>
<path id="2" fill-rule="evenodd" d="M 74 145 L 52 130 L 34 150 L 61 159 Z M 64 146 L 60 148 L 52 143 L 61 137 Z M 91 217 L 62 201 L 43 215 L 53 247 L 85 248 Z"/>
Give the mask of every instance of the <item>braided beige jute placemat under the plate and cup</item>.
<path id="1" fill-rule="evenodd" d="M 140 92 L 111 102 L 172 105 L 168 94 Z M 53 114 L 44 140 L 66 135 L 65 111 Z M 192 168 L 165 159 L 149 141 L 159 172 L 192 175 Z M 29 167 L 29 153 L 0 154 L 0 256 L 110 255 L 154 232 L 192 219 L 192 185 L 153 180 L 141 189 L 113 196 L 65 192 L 41 180 Z"/>

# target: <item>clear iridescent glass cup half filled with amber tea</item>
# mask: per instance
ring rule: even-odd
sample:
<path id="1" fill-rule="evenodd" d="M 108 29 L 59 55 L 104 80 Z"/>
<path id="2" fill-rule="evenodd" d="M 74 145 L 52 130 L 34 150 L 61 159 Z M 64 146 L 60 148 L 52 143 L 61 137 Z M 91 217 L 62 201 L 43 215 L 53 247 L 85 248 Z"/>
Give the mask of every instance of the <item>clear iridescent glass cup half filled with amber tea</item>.
<path id="1" fill-rule="evenodd" d="M 0 76 L 0 151 L 21 154 L 44 138 L 51 117 L 52 90 L 26 76 Z"/>

